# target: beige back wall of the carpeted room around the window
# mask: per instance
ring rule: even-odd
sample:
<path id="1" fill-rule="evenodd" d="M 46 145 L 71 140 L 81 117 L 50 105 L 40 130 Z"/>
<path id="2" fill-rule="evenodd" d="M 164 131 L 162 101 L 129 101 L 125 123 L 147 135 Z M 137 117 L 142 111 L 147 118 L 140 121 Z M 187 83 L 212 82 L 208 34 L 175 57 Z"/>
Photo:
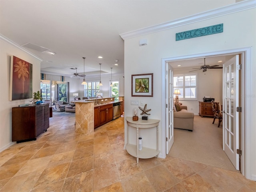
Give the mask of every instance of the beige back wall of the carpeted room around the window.
<path id="1" fill-rule="evenodd" d="M 197 87 L 198 94 L 197 100 L 182 100 L 179 99 L 179 102 L 182 105 L 186 105 L 188 107 L 188 111 L 192 112 L 196 115 L 199 113 L 199 101 L 203 101 L 204 96 L 210 96 L 214 98 L 216 102 L 220 102 L 222 104 L 222 69 L 209 69 L 206 72 L 202 72 L 199 70 L 194 73 L 188 73 L 188 71 L 192 70 L 191 68 L 181 68 L 174 69 L 173 74 L 197 74 Z"/>

